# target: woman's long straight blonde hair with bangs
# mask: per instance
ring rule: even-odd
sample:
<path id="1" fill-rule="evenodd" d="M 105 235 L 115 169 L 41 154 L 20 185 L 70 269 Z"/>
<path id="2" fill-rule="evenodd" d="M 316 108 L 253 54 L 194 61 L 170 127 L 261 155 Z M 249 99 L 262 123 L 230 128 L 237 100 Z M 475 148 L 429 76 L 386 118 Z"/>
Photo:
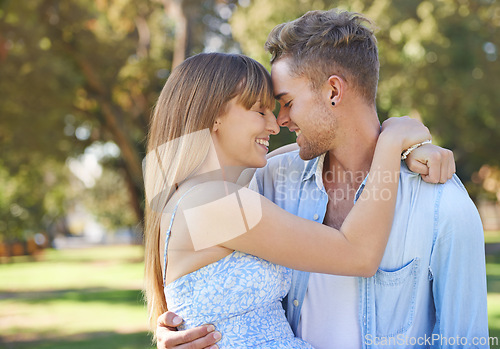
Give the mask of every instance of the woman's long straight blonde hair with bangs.
<path id="1" fill-rule="evenodd" d="M 158 316 L 167 311 L 159 255 L 161 214 L 177 185 L 205 160 L 215 119 L 235 97 L 247 109 L 257 101 L 273 109 L 267 70 L 243 55 L 202 53 L 174 69 L 158 98 L 144 160 L 145 296 L 154 332 Z"/>

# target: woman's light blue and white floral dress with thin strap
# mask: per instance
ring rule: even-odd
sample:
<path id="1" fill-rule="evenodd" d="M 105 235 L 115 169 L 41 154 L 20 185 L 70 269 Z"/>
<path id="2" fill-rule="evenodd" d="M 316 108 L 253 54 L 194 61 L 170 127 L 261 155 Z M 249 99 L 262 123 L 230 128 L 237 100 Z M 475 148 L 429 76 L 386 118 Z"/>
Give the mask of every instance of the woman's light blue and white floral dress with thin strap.
<path id="1" fill-rule="evenodd" d="M 167 230 L 165 260 L 177 206 Z M 281 305 L 291 279 L 288 268 L 234 251 L 174 280 L 164 292 L 168 309 L 184 319 L 180 329 L 213 324 L 222 334 L 219 348 L 311 349 L 294 337 Z"/>

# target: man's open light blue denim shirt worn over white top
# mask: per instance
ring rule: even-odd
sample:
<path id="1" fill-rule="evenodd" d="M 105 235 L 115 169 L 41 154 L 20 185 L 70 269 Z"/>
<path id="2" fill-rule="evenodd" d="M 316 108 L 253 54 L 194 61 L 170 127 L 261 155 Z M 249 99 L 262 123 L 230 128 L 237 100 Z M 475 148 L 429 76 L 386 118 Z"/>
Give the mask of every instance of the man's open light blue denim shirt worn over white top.
<path id="1" fill-rule="evenodd" d="M 328 203 L 322 159 L 303 161 L 298 151 L 275 156 L 250 187 L 321 223 Z M 308 279 L 308 272 L 294 271 L 283 302 L 295 333 Z M 428 184 L 402 163 L 384 257 L 376 274 L 359 277 L 358 286 L 363 348 L 489 347 L 483 229 L 458 177 Z"/>

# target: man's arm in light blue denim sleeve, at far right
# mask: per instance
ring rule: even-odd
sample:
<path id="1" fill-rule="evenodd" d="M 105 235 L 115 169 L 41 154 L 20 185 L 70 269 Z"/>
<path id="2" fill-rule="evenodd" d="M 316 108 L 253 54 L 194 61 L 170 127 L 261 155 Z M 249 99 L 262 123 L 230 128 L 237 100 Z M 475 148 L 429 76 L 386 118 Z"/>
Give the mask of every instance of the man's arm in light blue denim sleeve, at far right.
<path id="1" fill-rule="evenodd" d="M 489 348 L 481 220 L 456 176 L 438 190 L 437 235 L 430 261 L 436 309 L 433 335 L 439 338 L 434 347 Z"/>

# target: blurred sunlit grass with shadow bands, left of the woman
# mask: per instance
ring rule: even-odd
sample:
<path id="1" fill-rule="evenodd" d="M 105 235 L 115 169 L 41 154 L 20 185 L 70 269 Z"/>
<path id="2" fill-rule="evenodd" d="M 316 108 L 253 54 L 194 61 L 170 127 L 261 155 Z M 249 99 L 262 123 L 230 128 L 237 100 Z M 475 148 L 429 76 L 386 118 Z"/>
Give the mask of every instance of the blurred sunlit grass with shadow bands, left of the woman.
<path id="1" fill-rule="evenodd" d="M 151 348 L 142 276 L 140 246 L 0 264 L 0 348 Z"/>

